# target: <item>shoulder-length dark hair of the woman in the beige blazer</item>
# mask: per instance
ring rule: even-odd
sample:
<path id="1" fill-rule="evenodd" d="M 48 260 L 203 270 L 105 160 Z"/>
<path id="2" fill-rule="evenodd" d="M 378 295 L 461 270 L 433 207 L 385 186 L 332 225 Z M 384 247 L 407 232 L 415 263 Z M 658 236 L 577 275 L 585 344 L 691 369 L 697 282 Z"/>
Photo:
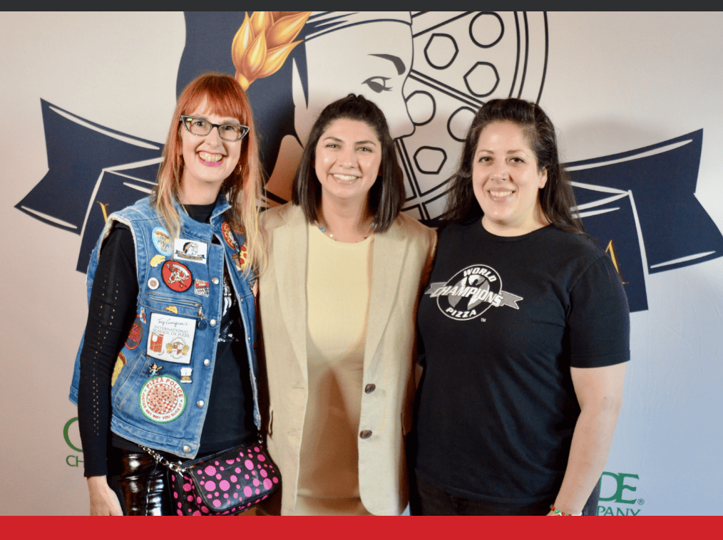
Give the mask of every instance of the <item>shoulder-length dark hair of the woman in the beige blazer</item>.
<path id="1" fill-rule="evenodd" d="M 335 120 L 348 118 L 364 122 L 375 131 L 382 145 L 382 165 L 380 175 L 369 189 L 369 210 L 374 214 L 375 232 L 385 232 L 392 226 L 401 212 L 406 198 L 404 193 L 404 177 L 395 153 L 394 139 L 389 133 L 387 119 L 382 110 L 362 95 L 349 94 L 346 97 L 327 105 L 314 123 L 301 163 L 294 177 L 294 192 L 291 201 L 301 206 L 307 222 L 313 223 L 318 218 L 321 203 L 321 184 L 316 176 L 315 160 L 316 145 L 324 131 Z"/>

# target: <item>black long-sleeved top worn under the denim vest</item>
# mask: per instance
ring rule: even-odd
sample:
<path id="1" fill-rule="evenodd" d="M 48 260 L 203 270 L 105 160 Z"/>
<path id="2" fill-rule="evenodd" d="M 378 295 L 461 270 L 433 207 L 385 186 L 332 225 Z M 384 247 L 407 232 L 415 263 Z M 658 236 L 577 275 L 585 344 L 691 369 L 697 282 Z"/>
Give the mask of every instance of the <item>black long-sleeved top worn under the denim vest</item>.
<path id="1" fill-rule="evenodd" d="M 214 207 L 215 203 L 187 205 L 186 209 L 189 217 L 203 223 Z M 224 268 L 221 331 L 199 454 L 225 450 L 256 433 L 244 328 L 227 272 Z M 80 354 L 78 424 L 85 476 L 100 476 L 108 470 L 111 374 L 136 316 L 137 296 L 133 235 L 126 225 L 116 224 L 100 251 Z M 139 451 L 138 445 L 120 435 L 111 433 L 110 439 L 116 448 Z"/>

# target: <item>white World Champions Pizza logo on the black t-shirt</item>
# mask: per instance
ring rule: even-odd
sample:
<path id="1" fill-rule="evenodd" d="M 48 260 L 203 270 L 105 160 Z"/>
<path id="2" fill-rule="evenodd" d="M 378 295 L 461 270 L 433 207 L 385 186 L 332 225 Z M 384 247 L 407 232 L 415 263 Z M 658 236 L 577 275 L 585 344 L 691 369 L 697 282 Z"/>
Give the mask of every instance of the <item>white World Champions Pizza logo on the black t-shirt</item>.
<path id="1" fill-rule="evenodd" d="M 457 321 L 477 318 L 492 306 L 508 305 L 518 310 L 517 302 L 522 300 L 503 291 L 500 274 L 484 264 L 468 266 L 446 283 L 432 283 L 424 294 L 437 298 L 442 313 Z"/>

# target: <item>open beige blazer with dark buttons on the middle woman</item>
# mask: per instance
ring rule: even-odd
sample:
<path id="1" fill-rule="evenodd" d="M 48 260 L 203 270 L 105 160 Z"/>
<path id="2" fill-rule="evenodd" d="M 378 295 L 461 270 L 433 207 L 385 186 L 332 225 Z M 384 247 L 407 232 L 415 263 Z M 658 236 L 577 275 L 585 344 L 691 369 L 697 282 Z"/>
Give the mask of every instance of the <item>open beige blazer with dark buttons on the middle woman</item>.
<path id="1" fill-rule="evenodd" d="M 258 297 L 264 353 L 260 357 L 268 382 L 262 394 L 268 400 L 268 449 L 281 471 L 281 514 L 288 515 L 296 505 L 308 396 L 308 231 L 301 208 L 291 203 L 263 212 L 260 222 L 269 249 Z M 403 214 L 374 239 L 359 388 L 358 432 L 365 438 L 360 435 L 357 443 L 361 502 L 376 515 L 399 515 L 408 502 L 404 438 L 411 428 L 414 402 L 416 307 L 436 247 L 437 233 Z M 368 385 L 375 385 L 374 390 Z M 278 513 L 278 497 L 268 502 L 266 510 Z"/>

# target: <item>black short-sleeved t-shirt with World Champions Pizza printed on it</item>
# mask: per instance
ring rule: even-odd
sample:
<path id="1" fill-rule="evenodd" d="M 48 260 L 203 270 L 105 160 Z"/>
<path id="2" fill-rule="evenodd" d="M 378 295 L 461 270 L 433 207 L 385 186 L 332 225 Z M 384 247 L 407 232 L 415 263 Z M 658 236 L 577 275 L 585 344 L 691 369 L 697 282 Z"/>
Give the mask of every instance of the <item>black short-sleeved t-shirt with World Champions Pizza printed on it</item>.
<path id="1" fill-rule="evenodd" d="M 630 358 L 612 261 L 552 225 L 517 237 L 450 225 L 429 283 L 418 318 L 417 474 L 497 505 L 555 495 L 580 413 L 570 367 Z"/>

